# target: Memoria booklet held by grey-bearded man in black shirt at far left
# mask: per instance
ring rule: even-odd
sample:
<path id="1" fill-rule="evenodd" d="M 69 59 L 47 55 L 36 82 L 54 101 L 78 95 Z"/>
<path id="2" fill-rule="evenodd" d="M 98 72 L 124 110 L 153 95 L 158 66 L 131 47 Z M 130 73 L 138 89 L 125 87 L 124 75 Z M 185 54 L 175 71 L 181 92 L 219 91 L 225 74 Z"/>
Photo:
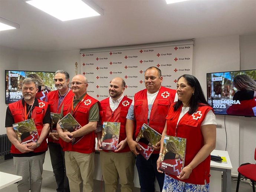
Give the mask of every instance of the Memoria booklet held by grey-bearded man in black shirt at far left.
<path id="1" fill-rule="evenodd" d="M 39 139 L 34 119 L 14 123 L 13 129 L 21 144 L 36 142 Z"/>

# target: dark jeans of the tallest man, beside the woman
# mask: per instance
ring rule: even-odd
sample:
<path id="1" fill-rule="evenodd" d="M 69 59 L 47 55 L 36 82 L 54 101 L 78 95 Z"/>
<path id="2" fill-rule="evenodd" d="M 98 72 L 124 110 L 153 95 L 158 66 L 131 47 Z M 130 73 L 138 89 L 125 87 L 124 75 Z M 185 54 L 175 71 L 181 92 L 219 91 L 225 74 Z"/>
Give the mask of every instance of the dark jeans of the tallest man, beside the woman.
<path id="1" fill-rule="evenodd" d="M 138 170 L 141 192 L 155 192 L 155 177 L 157 177 L 160 192 L 164 185 L 164 173 L 157 171 L 157 159 L 159 154 L 152 154 L 148 160 L 142 155 L 136 158 L 136 166 Z"/>

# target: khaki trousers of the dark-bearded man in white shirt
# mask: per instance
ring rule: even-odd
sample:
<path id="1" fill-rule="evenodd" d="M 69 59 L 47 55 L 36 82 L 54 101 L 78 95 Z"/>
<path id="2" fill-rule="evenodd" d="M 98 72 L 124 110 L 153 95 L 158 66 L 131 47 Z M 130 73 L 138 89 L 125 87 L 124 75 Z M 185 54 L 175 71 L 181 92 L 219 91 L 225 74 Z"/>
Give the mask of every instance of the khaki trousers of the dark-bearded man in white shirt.
<path id="1" fill-rule="evenodd" d="M 134 188 L 135 156 L 131 151 L 124 153 L 100 152 L 101 170 L 105 182 L 105 192 L 116 192 L 118 176 L 121 192 L 132 192 Z"/>

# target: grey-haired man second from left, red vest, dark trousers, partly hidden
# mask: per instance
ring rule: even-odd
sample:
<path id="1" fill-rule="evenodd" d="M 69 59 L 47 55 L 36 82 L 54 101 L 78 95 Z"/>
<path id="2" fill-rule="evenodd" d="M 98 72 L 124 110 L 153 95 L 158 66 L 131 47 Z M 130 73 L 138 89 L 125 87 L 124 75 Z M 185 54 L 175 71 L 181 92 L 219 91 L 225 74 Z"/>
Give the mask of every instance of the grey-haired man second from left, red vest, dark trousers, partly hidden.
<path id="1" fill-rule="evenodd" d="M 69 88 L 69 74 L 64 70 L 57 70 L 54 76 L 57 90 L 51 91 L 47 95 L 47 102 L 51 113 L 61 112 L 63 103 L 72 98 L 74 93 Z M 59 144 L 59 135 L 56 128 L 52 128 L 48 133 L 48 146 L 52 169 L 57 183 L 57 192 L 69 192 L 69 183 L 65 171 L 65 158 L 62 147 Z"/>

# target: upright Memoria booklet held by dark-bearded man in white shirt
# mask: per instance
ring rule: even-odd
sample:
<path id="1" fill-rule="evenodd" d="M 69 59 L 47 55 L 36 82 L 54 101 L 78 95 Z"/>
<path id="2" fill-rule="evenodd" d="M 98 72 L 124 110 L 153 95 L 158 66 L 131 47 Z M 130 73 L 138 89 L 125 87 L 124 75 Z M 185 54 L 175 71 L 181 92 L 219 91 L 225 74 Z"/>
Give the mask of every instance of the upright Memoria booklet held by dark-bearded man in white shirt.
<path id="1" fill-rule="evenodd" d="M 116 150 L 120 132 L 120 123 L 103 122 L 101 135 L 101 149 Z"/>

